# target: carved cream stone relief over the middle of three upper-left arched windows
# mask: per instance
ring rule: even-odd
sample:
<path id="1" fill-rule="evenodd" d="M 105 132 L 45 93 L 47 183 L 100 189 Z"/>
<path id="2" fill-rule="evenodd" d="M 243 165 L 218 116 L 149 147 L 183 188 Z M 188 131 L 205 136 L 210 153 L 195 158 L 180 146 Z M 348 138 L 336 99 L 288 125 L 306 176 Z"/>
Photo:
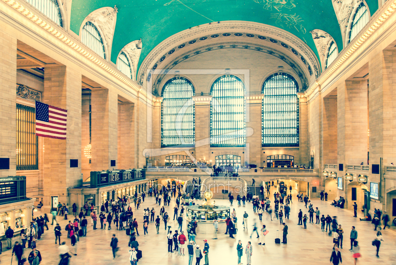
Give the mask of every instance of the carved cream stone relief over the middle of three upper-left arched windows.
<path id="1" fill-rule="evenodd" d="M 117 13 L 118 8 L 114 6 L 114 8 L 105 7 L 99 8 L 90 13 L 83 22 L 83 25 L 87 21 L 94 22 L 97 26 L 99 26 L 103 36 L 102 39 L 107 46 L 107 57 L 106 59 L 110 59 L 111 55 L 111 47 L 113 43 L 114 30 L 116 28 L 117 21 Z"/>

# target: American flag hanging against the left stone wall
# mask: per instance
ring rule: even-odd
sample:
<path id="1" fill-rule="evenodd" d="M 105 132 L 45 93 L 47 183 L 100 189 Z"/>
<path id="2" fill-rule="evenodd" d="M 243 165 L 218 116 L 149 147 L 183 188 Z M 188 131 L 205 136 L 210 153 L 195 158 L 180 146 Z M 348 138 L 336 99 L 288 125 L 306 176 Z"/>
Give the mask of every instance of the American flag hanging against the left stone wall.
<path id="1" fill-rule="evenodd" d="M 67 110 L 36 101 L 36 135 L 66 139 Z"/>

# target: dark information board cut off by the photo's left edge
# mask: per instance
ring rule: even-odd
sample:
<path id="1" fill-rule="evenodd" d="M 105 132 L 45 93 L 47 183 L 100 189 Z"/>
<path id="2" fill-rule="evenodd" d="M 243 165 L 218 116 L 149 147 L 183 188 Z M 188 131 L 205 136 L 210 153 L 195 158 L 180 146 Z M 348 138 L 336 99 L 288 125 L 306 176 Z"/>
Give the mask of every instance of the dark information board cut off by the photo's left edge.
<path id="1" fill-rule="evenodd" d="M 0 178 L 0 204 L 26 199 L 26 177 Z"/>

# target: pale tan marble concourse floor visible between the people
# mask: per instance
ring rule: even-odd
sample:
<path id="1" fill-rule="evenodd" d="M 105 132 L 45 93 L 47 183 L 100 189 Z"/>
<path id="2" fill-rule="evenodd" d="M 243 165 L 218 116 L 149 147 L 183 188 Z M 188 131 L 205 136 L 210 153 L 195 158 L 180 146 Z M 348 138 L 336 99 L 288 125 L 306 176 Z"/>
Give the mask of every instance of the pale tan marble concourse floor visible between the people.
<path id="1" fill-rule="evenodd" d="M 272 194 L 274 193 L 271 190 Z M 272 197 L 273 198 L 273 197 Z M 234 203 L 233 208 L 235 208 L 238 217 L 238 232 L 235 239 L 231 239 L 228 235 L 219 234 L 219 239 L 213 240 L 212 235 L 204 236 L 198 234 L 196 237 L 196 242 L 203 246 L 204 239 L 208 240 L 210 250 L 209 250 L 209 263 L 213 264 L 237 264 L 237 253 L 236 244 L 238 240 L 242 240 L 242 244 L 245 247 L 247 241 L 251 241 L 253 245 L 253 255 L 252 264 L 295 264 L 295 265 L 309 265 L 309 264 L 324 264 L 329 263 L 329 257 L 331 255 L 333 247 L 333 237 L 329 237 L 327 233 L 322 232 L 320 225 L 307 223 L 307 229 L 303 229 L 303 225 L 297 225 L 297 214 L 299 209 L 303 210 L 304 214 L 308 215 L 307 209 L 305 209 L 304 203 L 297 202 L 297 198 L 293 200 L 291 204 L 291 218 L 286 220 L 286 224 L 289 227 L 289 234 L 287 236 L 287 245 L 275 244 L 274 239 L 276 238 L 276 230 L 281 230 L 282 226 L 276 218 L 272 218 L 273 221 L 266 220 L 268 214 L 265 212 L 263 214 L 263 222 L 267 226 L 269 233 L 266 237 L 265 246 L 258 245 L 259 239 L 255 238 L 253 235 L 252 239 L 249 239 L 252 227 L 248 229 L 243 229 L 242 226 L 242 215 L 244 211 L 249 214 L 248 220 L 251 221 L 253 218 L 258 216 L 253 212 L 252 204 L 247 203 L 246 206 L 237 206 Z M 172 198 L 174 202 L 174 198 Z M 273 201 L 273 200 L 272 200 Z M 385 242 L 382 242 L 379 258 L 375 256 L 375 247 L 371 245 L 371 241 L 375 237 L 376 231 L 373 231 L 374 226 L 371 222 L 359 221 L 359 218 L 354 218 L 353 213 L 339 209 L 331 206 L 330 202 L 320 201 L 320 199 L 313 199 L 313 206 L 318 207 L 321 214 L 325 216 L 329 214 L 330 216 L 337 216 L 338 222 L 345 229 L 344 236 L 344 248 L 341 250 L 343 263 L 353 264 L 353 258 L 351 252 L 348 251 L 350 248 L 349 233 L 351 226 L 354 225 L 358 231 L 358 242 L 360 245 L 360 253 L 362 257 L 358 260 L 358 264 L 396 264 L 396 249 L 395 240 L 396 232 L 393 229 L 382 230 Z M 146 198 L 145 203 L 142 204 L 143 207 L 147 208 L 154 207 L 156 213 L 159 213 L 160 207 L 155 203 L 154 197 Z M 229 205 L 226 200 L 216 200 L 217 204 Z M 174 205 L 174 203 L 171 203 Z M 273 203 L 272 203 L 273 205 Z M 133 204 L 131 204 L 133 207 Z M 171 206 L 165 206 L 168 212 L 173 212 Z M 139 233 L 140 236 L 137 237 L 139 242 L 139 250 L 142 250 L 143 258 L 139 260 L 139 264 L 174 264 L 174 265 L 186 265 L 188 264 L 188 255 L 178 256 L 177 252 L 168 253 L 167 240 L 166 240 L 166 230 L 164 229 L 164 223 L 161 221 L 160 233 L 156 234 L 156 229 L 154 223 L 150 223 L 148 227 L 148 235 L 143 235 L 143 208 L 139 208 L 137 212 L 133 210 L 134 216 L 137 216 L 139 221 Z M 39 213 L 39 212 L 38 212 Z M 36 213 L 36 214 L 38 214 Z M 170 215 L 170 214 L 169 214 Z M 362 217 L 362 213 L 358 214 L 358 217 Z M 172 216 L 173 217 L 173 216 Z M 58 216 L 58 220 L 61 217 Z M 173 218 L 172 218 L 173 219 Z M 66 220 L 59 220 L 61 227 L 65 227 L 67 224 Z M 99 221 L 98 221 L 99 223 Z M 260 223 L 260 222 L 259 222 Z M 88 220 L 88 225 L 90 221 Z M 171 223 L 173 230 L 174 226 L 177 226 L 176 221 Z M 183 222 L 183 228 L 186 231 L 186 223 Z M 49 226 L 49 231 L 46 231 L 42 238 L 37 241 L 37 249 L 40 250 L 42 255 L 41 265 L 51 264 L 56 265 L 59 263 L 59 255 L 57 247 L 55 245 L 53 226 Z M 63 231 L 65 232 L 65 231 Z M 280 231 L 282 232 L 282 231 Z M 118 256 L 113 260 L 112 252 L 110 248 L 111 235 L 115 233 L 119 240 L 120 250 L 118 251 Z M 62 240 L 65 240 L 70 246 L 70 239 L 67 239 L 65 233 L 63 233 Z M 282 240 L 282 233 L 280 233 L 280 239 Z M 70 259 L 72 265 L 89 265 L 89 264 L 100 264 L 100 265 L 125 265 L 129 264 L 128 261 L 128 240 L 129 236 L 126 235 L 125 231 L 112 230 L 101 230 L 100 223 L 99 229 L 96 231 L 92 230 L 91 226 L 88 226 L 87 237 L 80 238 L 78 244 L 78 255 L 73 256 Z M 201 247 L 202 249 L 202 247 Z M 25 250 L 29 254 L 29 250 Z M 186 248 L 187 251 L 187 248 Z M 186 252 L 187 253 L 187 252 Z M 1 263 L 10 264 L 11 263 L 11 250 L 7 250 L 1 254 Z M 15 258 L 13 261 L 14 264 Z M 246 264 L 246 256 L 242 256 L 242 263 Z M 195 264 L 195 258 L 194 263 Z M 201 260 L 201 265 L 204 264 L 204 260 Z"/>

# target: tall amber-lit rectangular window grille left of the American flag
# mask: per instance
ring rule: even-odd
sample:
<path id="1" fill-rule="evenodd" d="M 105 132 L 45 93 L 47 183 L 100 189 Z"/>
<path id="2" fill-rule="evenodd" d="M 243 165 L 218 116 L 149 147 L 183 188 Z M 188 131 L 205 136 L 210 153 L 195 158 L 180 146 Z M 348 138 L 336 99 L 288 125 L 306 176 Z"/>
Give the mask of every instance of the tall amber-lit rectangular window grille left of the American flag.
<path id="1" fill-rule="evenodd" d="M 38 169 L 38 136 L 36 111 L 17 104 L 17 170 Z"/>

